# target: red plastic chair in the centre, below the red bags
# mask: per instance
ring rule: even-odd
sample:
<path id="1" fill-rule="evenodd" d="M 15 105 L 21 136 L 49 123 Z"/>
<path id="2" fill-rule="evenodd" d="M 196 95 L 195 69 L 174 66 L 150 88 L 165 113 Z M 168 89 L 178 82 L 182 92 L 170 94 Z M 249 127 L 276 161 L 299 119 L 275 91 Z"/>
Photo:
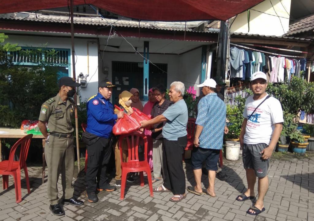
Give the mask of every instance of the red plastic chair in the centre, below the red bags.
<path id="1" fill-rule="evenodd" d="M 119 147 L 122 147 L 123 139 L 127 141 L 127 149 L 128 149 L 128 161 L 123 162 L 122 157 L 122 148 L 120 149 L 121 155 L 121 168 L 122 168 L 122 180 L 121 180 L 121 197 L 120 199 L 124 199 L 124 190 L 127 181 L 127 174 L 129 172 L 140 172 L 141 186 L 144 186 L 144 175 L 143 171 L 147 173 L 148 186 L 150 191 L 150 196 L 153 197 L 153 184 L 152 184 L 152 176 L 150 172 L 150 167 L 147 161 L 147 137 L 142 132 L 134 131 L 129 134 L 120 135 L 119 137 Z M 144 141 L 144 160 L 139 161 L 138 159 L 138 143 L 140 138 Z"/>

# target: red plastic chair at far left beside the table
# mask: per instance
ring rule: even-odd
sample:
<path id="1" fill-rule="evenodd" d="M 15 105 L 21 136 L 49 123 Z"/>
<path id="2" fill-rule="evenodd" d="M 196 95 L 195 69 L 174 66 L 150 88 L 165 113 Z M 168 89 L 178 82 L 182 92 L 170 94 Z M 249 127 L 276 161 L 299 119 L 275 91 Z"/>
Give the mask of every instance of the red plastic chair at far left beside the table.
<path id="1" fill-rule="evenodd" d="M 28 179 L 28 171 L 25 161 L 32 137 L 33 134 L 29 134 L 19 139 L 11 148 L 9 159 L 0 162 L 0 174 L 3 179 L 3 190 L 8 189 L 9 175 L 12 175 L 14 177 L 15 198 L 17 203 L 22 201 L 21 169 L 24 169 L 27 191 L 28 194 L 30 194 L 30 181 Z M 14 161 L 14 154 L 18 146 L 21 146 L 19 161 Z"/>

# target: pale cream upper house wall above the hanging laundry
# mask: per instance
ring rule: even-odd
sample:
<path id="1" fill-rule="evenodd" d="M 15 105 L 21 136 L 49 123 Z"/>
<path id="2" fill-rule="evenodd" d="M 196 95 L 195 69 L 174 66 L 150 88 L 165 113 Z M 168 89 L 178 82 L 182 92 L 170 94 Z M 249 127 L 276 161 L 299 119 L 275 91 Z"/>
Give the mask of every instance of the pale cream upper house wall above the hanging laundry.
<path id="1" fill-rule="evenodd" d="M 271 3 L 273 3 L 273 7 Z M 247 11 L 245 11 L 231 19 L 231 23 L 234 21 L 231 26 L 231 32 L 258 35 L 283 35 L 289 30 L 290 16 L 288 13 L 290 13 L 290 5 L 291 0 L 263 1 L 252 8 L 263 13 L 250 10 L 250 31 L 248 31 Z M 278 16 L 284 18 L 277 17 L 276 13 Z"/>

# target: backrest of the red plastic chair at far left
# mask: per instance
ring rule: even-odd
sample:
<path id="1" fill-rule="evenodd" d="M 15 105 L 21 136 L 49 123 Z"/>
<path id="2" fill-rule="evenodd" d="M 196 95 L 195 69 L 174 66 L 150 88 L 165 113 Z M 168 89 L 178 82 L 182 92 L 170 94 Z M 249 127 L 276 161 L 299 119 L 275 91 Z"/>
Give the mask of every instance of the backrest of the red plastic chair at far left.
<path id="1" fill-rule="evenodd" d="M 12 165 L 13 165 L 13 161 L 14 161 L 14 154 L 15 154 L 16 148 L 18 148 L 19 146 L 21 146 L 20 157 L 19 157 L 19 167 L 24 168 L 27 154 L 28 154 L 28 149 L 30 147 L 30 141 L 31 141 L 32 137 L 33 137 L 33 134 L 29 134 L 29 135 L 26 135 L 26 136 L 20 138 L 16 143 L 14 143 L 13 147 L 10 150 L 10 155 L 9 155 L 9 159 L 8 159 L 8 167 L 4 171 L 11 171 L 12 170 Z"/>

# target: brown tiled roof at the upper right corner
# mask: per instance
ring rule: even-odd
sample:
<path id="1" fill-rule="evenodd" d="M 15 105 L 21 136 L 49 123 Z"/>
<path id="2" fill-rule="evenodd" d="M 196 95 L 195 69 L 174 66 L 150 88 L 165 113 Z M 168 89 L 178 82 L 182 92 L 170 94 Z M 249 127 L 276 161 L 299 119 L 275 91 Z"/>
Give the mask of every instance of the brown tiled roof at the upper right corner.
<path id="1" fill-rule="evenodd" d="M 285 36 L 295 35 L 306 31 L 314 30 L 314 14 L 306 16 L 289 25 L 289 31 Z"/>

